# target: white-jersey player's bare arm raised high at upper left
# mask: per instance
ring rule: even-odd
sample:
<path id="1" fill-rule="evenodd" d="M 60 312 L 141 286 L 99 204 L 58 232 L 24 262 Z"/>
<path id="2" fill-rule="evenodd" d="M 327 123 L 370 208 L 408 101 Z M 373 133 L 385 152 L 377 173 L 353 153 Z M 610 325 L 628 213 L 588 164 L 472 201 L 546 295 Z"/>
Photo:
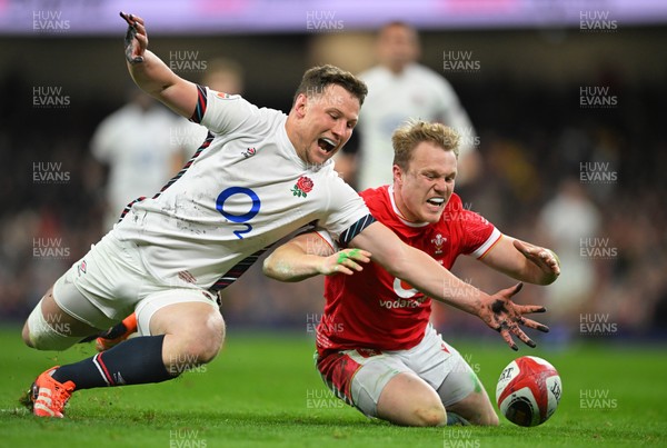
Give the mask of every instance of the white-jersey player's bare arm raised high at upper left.
<path id="1" fill-rule="evenodd" d="M 126 59 L 130 76 L 137 86 L 178 115 L 190 118 L 197 107 L 197 86 L 177 76 L 148 50 L 143 19 L 126 12 L 121 12 L 120 17 L 128 22 Z"/>

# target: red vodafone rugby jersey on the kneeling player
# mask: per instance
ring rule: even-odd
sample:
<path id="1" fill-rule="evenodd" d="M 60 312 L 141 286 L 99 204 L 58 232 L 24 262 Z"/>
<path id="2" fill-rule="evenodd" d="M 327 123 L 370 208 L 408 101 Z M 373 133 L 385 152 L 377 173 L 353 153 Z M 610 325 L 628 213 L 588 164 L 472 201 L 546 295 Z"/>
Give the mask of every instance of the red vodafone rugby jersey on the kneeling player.
<path id="1" fill-rule="evenodd" d="M 420 225 L 401 218 L 391 187 L 360 195 L 378 221 L 447 269 L 460 253 L 482 257 L 501 237 L 494 225 L 467 210 L 456 193 L 438 222 Z M 327 277 L 325 298 L 317 328 L 320 354 L 352 348 L 409 349 L 424 337 L 431 312 L 430 298 L 372 261 L 352 276 Z"/>

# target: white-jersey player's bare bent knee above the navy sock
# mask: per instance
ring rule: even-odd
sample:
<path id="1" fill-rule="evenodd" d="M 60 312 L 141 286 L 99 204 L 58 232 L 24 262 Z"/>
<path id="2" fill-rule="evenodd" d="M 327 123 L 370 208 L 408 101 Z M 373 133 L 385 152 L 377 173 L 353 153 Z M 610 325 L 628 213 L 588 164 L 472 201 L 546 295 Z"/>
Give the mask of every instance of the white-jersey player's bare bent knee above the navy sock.
<path id="1" fill-rule="evenodd" d="M 208 303 L 173 303 L 156 311 L 150 332 L 165 335 L 162 360 L 167 371 L 178 375 L 218 355 L 225 340 L 225 320 Z"/>

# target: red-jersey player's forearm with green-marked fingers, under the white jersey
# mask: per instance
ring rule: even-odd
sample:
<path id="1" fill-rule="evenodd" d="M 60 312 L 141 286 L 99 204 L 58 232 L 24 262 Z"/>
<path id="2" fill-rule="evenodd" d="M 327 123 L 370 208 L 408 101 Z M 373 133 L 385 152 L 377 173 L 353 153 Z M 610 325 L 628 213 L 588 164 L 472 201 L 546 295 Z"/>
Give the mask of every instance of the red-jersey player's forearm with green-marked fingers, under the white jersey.
<path id="1" fill-rule="evenodd" d="M 345 249 L 336 252 L 317 232 L 302 233 L 278 247 L 265 259 L 263 273 L 280 281 L 300 281 L 318 275 L 352 275 L 370 261 L 370 252 Z"/>

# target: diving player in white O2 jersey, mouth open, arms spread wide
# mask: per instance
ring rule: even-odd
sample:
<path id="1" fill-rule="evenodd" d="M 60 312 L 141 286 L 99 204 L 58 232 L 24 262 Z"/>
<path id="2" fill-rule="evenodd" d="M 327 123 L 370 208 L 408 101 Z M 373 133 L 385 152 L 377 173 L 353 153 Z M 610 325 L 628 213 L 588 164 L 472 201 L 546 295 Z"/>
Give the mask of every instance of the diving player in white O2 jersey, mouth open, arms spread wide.
<path id="1" fill-rule="evenodd" d="M 317 67 L 305 73 L 288 116 L 259 109 L 175 74 L 147 50 L 143 20 L 121 16 L 129 23 L 126 57 L 135 82 L 210 135 L 161 192 L 130 205 L 29 316 L 22 337 L 40 350 L 66 349 L 132 312 L 140 332 L 94 357 L 47 369 L 26 397 L 34 415 L 62 417 L 74 390 L 165 381 L 211 361 L 225 338 L 211 289 L 310 222 L 342 247 L 372 252 L 430 297 L 479 316 L 510 346 L 511 335 L 532 344 L 518 323 L 541 307 L 517 307 L 509 290 L 489 296 L 457 279 L 376 222 L 334 172 L 330 158 L 357 122 L 364 82 Z"/>

